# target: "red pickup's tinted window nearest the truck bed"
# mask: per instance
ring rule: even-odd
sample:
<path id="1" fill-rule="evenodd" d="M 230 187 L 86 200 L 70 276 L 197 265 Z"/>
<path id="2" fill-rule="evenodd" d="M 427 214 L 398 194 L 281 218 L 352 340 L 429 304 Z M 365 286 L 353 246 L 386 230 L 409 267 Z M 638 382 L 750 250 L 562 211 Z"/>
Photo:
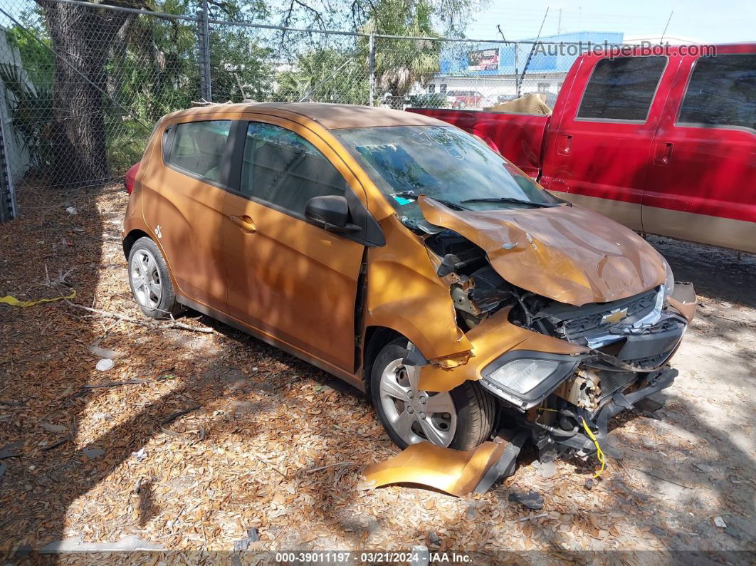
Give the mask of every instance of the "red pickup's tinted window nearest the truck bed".
<path id="1" fill-rule="evenodd" d="M 667 57 L 602 59 L 593 68 L 578 118 L 645 122 Z"/>

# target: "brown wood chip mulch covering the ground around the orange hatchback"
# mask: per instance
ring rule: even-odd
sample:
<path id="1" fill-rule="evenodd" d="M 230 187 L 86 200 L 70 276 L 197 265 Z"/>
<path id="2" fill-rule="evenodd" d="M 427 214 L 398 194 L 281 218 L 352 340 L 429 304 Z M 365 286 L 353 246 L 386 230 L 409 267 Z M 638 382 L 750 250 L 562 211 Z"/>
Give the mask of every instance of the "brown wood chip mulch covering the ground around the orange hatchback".
<path id="1" fill-rule="evenodd" d="M 398 450 L 363 394 L 207 317 L 179 320 L 187 329 L 125 320 L 147 321 L 120 244 L 122 184 L 67 193 L 29 184 L 19 199 L 21 217 L 0 225 L 0 296 L 75 289 L 76 298 L 0 305 L 4 560 L 56 540 L 129 535 L 170 551 L 230 551 L 250 528 L 260 539 L 250 550 L 424 544 L 491 561 L 531 549 L 753 549 L 752 539 L 712 524 L 727 511 L 724 490 L 680 481 L 683 496 L 673 500 L 658 489 L 711 445 L 637 413 L 619 419 L 615 440 L 666 451 L 664 469 L 609 458 L 589 489 L 596 462 L 557 462 L 546 478 L 526 452 L 516 475 L 485 495 L 372 490 L 361 469 Z M 98 371 L 103 350 L 113 351 L 114 367 Z M 753 469 L 725 473 L 753 493 Z M 538 490 L 544 508 L 510 502 L 513 490 Z M 680 505 L 691 498 L 700 503 Z M 752 518 L 753 508 L 735 506 Z"/>

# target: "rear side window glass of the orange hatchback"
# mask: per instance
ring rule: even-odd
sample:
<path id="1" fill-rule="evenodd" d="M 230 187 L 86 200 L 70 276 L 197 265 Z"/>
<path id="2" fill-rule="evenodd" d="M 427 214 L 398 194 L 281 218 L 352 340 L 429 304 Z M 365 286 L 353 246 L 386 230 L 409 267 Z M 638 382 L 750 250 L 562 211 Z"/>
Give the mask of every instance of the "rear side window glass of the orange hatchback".
<path id="1" fill-rule="evenodd" d="M 221 162 L 231 120 L 208 120 L 176 125 L 168 162 L 208 181 L 221 180 Z"/>

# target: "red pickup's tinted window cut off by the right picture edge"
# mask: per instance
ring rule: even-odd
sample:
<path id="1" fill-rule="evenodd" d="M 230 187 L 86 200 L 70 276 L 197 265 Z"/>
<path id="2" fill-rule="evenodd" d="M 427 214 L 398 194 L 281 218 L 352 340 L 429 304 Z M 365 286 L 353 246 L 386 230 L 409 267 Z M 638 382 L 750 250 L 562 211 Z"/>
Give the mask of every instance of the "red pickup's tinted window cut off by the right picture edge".
<path id="1" fill-rule="evenodd" d="M 756 129 L 756 54 L 699 58 L 678 122 Z"/>

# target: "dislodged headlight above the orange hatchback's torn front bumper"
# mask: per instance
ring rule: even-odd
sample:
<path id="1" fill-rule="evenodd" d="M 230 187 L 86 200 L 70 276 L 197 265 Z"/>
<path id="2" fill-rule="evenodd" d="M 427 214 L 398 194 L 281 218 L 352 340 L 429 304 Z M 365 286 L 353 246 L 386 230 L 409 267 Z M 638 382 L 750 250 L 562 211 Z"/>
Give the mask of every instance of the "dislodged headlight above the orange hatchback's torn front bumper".
<path id="1" fill-rule="evenodd" d="M 481 385 L 522 410 L 541 403 L 578 366 L 572 356 L 510 351 L 483 369 Z"/>

